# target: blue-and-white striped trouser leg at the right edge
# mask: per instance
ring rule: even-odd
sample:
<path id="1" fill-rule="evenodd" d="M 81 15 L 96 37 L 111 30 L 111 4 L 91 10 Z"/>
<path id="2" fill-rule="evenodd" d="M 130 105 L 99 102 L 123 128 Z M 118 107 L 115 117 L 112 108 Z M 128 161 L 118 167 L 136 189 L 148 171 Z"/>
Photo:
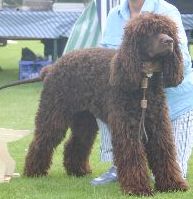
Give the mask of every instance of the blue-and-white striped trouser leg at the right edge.
<path id="1" fill-rule="evenodd" d="M 193 110 L 172 121 L 177 149 L 177 159 L 183 177 L 187 176 L 187 165 L 193 147 Z"/>

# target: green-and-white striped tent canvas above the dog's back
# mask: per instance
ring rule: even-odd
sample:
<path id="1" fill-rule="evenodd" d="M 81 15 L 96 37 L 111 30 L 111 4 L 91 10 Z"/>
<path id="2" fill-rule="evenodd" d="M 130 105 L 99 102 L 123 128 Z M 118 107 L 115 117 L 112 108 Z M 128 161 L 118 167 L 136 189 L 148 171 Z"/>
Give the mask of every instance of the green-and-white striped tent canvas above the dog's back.
<path id="1" fill-rule="evenodd" d="M 99 45 L 108 11 L 121 0 L 91 1 L 76 21 L 64 53 Z"/>

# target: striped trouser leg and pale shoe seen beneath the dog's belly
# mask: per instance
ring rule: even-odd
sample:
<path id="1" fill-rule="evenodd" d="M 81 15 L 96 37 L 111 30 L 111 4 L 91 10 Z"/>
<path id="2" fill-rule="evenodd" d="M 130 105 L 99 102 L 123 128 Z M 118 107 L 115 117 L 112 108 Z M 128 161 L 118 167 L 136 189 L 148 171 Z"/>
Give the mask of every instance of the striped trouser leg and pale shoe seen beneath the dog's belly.
<path id="1" fill-rule="evenodd" d="M 97 119 L 97 124 L 99 128 L 99 132 L 101 135 L 101 161 L 103 162 L 113 162 L 113 153 L 112 153 L 112 143 L 111 143 L 111 133 L 107 124 Z M 92 185 L 102 185 L 109 182 L 117 181 L 117 172 L 116 167 L 112 165 L 105 173 L 100 175 L 97 178 L 94 178 L 91 181 Z"/>

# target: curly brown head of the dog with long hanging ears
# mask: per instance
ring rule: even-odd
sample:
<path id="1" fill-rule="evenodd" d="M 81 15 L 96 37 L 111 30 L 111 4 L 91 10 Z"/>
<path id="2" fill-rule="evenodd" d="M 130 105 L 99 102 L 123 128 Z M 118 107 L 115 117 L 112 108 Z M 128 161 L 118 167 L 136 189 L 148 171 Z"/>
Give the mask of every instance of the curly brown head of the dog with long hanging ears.
<path id="1" fill-rule="evenodd" d="M 183 79 L 182 55 L 178 44 L 176 24 L 168 17 L 144 13 L 130 20 L 112 62 L 110 83 L 123 84 L 123 76 L 126 75 L 126 84 L 138 88 L 144 63 L 151 62 L 159 63 L 166 87 L 178 85 Z"/>

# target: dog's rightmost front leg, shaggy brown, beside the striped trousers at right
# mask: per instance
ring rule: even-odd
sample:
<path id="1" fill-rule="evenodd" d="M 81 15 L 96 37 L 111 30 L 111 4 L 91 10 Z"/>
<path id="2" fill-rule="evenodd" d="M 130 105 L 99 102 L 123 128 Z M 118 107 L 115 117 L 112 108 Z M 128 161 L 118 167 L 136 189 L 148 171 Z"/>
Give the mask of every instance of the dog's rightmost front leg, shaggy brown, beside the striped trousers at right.
<path id="1" fill-rule="evenodd" d="M 165 110 L 165 108 L 158 110 L 157 115 L 162 115 L 160 120 L 155 120 L 157 117 L 154 115 L 154 118 L 147 123 L 150 135 L 146 145 L 149 165 L 155 176 L 155 187 L 158 191 L 186 191 L 188 184 L 183 179 L 176 160 L 172 127 L 167 113 L 164 113 Z"/>

